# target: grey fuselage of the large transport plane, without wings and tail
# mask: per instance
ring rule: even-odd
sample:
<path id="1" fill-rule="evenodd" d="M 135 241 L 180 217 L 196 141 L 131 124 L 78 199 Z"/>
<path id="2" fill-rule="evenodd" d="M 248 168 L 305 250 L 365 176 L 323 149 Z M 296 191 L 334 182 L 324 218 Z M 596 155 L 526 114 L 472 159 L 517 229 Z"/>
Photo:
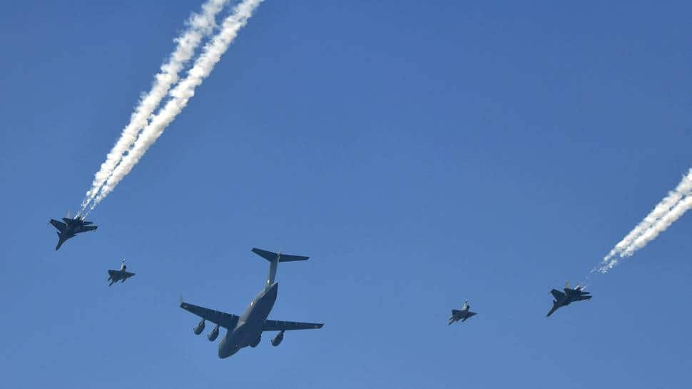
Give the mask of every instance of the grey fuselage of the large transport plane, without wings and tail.
<path id="1" fill-rule="evenodd" d="M 218 348 L 219 358 L 228 358 L 238 353 L 241 348 L 257 345 L 264 322 L 274 307 L 278 288 L 279 283 L 273 283 L 253 298 L 243 315 L 238 318 L 235 328 L 229 328 L 221 339 Z"/>

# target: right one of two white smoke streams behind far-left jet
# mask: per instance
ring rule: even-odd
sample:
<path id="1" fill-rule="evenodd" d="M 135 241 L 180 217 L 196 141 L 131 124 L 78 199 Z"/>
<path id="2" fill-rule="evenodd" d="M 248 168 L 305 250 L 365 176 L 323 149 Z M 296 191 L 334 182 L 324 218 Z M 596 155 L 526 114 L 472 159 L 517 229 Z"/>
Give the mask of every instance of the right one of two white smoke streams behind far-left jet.
<path id="1" fill-rule="evenodd" d="M 181 80 L 171 91 L 171 99 L 166 106 L 161 108 L 154 116 L 141 135 L 137 138 L 133 148 L 123 157 L 123 161 L 116 167 L 115 171 L 106 183 L 101 187 L 101 191 L 93 201 L 91 209 L 95 208 L 103 198 L 108 196 L 120 181 L 127 176 L 132 168 L 138 163 L 140 158 L 146 153 L 147 149 L 156 142 L 159 136 L 166 130 L 180 111 L 187 105 L 192 96 L 195 95 L 195 88 L 202 84 L 202 81 L 209 76 L 215 64 L 220 61 L 221 56 L 228 50 L 228 46 L 233 42 L 238 31 L 248 23 L 253 11 L 263 0 L 244 0 L 233 10 L 233 14 L 228 16 L 221 26 L 221 31 L 209 41 L 203 49 L 202 54 L 195 60 L 192 69 L 188 71 L 188 76 Z"/>

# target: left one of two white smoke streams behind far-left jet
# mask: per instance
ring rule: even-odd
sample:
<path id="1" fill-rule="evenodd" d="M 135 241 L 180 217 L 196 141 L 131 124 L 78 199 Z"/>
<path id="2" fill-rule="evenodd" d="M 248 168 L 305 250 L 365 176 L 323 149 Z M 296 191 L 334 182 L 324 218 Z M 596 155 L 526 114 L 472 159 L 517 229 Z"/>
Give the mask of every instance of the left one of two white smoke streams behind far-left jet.
<path id="1" fill-rule="evenodd" d="M 161 100 L 166 97 L 171 86 L 178 82 L 178 79 L 180 79 L 178 74 L 195 54 L 195 49 L 197 49 L 204 36 L 211 34 L 215 26 L 217 14 L 227 3 L 228 0 L 208 0 L 202 5 L 200 14 L 192 14 L 190 16 L 186 22 L 188 28 L 175 39 L 178 45 L 175 47 L 173 54 L 171 54 L 171 58 L 168 59 L 168 62 L 161 65 L 161 71 L 156 74 L 151 90 L 141 97 L 139 105 L 130 117 L 130 123 L 123 128 L 120 138 L 108 153 L 108 156 L 106 156 L 106 161 L 101 163 L 101 168 L 94 175 L 91 189 L 86 192 L 86 197 L 81 203 L 81 211 L 79 213 L 82 213 L 93 198 L 96 197 L 98 190 L 122 160 L 123 154 L 136 141 L 139 131 L 147 125 L 153 111 L 161 104 Z"/>

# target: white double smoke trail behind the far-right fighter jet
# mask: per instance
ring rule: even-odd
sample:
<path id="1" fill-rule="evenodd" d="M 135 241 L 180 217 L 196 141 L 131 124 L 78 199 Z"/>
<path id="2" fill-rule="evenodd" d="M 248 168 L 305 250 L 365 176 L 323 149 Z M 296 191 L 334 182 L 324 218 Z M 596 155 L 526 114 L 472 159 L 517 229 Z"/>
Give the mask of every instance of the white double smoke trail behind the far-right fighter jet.
<path id="1" fill-rule="evenodd" d="M 595 271 L 607 273 L 617 265 L 620 258 L 632 256 L 635 251 L 653 241 L 658 234 L 666 231 L 678 218 L 692 208 L 692 169 L 683 176 L 678 186 L 668 193 L 656 207 L 643 219 L 634 230 L 623 238 L 603 258 Z"/>

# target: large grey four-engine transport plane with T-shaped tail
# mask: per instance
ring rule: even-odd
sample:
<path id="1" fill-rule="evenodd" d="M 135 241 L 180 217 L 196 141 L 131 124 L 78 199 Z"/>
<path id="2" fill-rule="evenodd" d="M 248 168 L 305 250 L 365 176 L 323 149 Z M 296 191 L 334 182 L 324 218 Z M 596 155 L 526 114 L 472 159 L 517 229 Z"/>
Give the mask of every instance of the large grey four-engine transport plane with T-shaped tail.
<path id="1" fill-rule="evenodd" d="M 227 330 L 226 335 L 221 339 L 221 343 L 218 346 L 219 358 L 228 358 L 230 355 L 238 353 L 238 350 L 241 348 L 248 347 L 248 345 L 256 347 L 260 343 L 262 333 L 265 331 L 279 331 L 278 335 L 272 339 L 272 345 L 279 345 L 283 340 L 285 330 L 307 330 L 322 328 L 322 325 L 324 325 L 324 323 L 300 323 L 267 319 L 274 306 L 279 287 L 279 284 L 274 282 L 278 263 L 305 261 L 308 257 L 288 256 L 282 253 L 260 250 L 259 248 L 253 248 L 253 253 L 269 261 L 269 275 L 267 276 L 265 287 L 250 301 L 250 305 L 242 315 L 237 316 L 219 310 L 188 304 L 180 298 L 180 308 L 202 318 L 202 321 L 193 328 L 195 335 L 202 333 L 205 320 L 209 320 L 216 325 L 207 336 L 212 342 L 218 337 L 219 327 Z"/>

